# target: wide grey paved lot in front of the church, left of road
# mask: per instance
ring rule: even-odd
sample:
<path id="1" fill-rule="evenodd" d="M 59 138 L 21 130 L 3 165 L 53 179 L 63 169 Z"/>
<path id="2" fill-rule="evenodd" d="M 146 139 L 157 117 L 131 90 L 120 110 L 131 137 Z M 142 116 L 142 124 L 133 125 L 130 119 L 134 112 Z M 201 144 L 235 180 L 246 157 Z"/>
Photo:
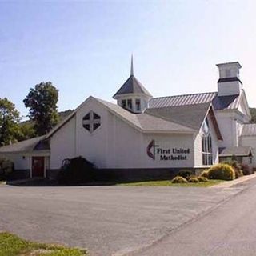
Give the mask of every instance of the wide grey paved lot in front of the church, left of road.
<path id="1" fill-rule="evenodd" d="M 121 255 L 150 245 L 239 189 L 0 186 L 0 230 Z"/>

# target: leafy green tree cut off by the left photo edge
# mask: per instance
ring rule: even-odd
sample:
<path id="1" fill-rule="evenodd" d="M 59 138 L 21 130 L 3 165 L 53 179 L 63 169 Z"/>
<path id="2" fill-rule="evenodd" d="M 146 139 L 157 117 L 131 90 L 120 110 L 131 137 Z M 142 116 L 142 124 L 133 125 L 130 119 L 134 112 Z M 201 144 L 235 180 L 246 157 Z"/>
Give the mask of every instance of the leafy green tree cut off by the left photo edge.
<path id="1" fill-rule="evenodd" d="M 0 146 L 17 142 L 16 138 L 20 132 L 19 121 L 19 113 L 14 103 L 7 98 L 0 98 Z"/>

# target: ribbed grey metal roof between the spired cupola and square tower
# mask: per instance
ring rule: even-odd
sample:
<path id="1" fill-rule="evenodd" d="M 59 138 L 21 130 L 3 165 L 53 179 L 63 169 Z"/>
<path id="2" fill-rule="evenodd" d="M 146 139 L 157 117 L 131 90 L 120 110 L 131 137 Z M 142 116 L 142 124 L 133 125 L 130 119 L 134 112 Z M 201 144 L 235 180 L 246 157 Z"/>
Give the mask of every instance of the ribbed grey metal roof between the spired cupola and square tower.
<path id="1" fill-rule="evenodd" d="M 239 95 L 218 96 L 217 92 L 185 94 L 170 97 L 151 98 L 150 108 L 187 106 L 212 102 L 214 110 L 237 109 L 239 99 Z"/>

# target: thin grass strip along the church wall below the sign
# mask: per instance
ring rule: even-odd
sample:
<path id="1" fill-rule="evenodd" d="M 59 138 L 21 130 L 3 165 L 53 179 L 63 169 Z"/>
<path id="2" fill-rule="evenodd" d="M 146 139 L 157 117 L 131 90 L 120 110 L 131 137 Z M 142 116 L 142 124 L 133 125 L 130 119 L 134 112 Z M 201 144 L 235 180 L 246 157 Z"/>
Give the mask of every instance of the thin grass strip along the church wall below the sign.
<path id="1" fill-rule="evenodd" d="M 130 183 L 122 183 L 119 185 L 123 186 L 197 186 L 197 187 L 206 187 L 206 186 L 214 186 L 218 183 L 224 181 L 211 179 L 209 182 L 198 182 L 198 183 L 172 183 L 170 181 L 149 181 L 149 182 L 130 182 Z"/>

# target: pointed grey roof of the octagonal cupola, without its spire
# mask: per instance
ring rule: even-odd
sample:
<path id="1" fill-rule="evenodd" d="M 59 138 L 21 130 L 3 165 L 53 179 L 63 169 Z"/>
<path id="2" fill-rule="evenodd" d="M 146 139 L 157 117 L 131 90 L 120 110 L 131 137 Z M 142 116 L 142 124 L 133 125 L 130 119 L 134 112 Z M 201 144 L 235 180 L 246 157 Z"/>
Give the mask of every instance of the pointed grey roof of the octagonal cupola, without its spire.
<path id="1" fill-rule="evenodd" d="M 139 82 L 133 74 L 130 75 L 130 78 L 128 78 L 121 88 L 114 94 L 113 98 L 116 99 L 118 95 L 122 94 L 146 94 L 147 96 L 152 97 L 150 92 L 142 86 L 142 83 Z"/>

